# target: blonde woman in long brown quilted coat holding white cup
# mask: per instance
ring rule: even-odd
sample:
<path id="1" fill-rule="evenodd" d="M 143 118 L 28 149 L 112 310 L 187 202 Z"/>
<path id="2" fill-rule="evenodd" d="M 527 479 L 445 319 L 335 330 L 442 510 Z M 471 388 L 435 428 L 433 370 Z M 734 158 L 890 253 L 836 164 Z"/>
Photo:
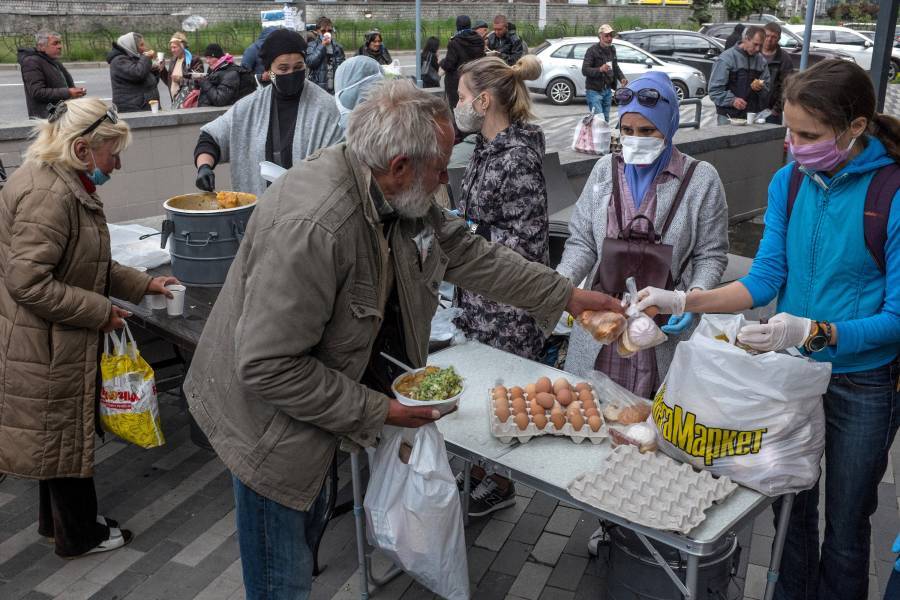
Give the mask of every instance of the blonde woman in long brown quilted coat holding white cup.
<path id="1" fill-rule="evenodd" d="M 177 281 L 112 260 L 97 186 L 131 137 L 116 111 L 69 100 L 35 129 L 0 191 L 0 473 L 39 481 L 38 533 L 77 558 L 132 538 L 98 512 L 93 480 L 101 342 L 130 316 L 109 297 L 168 296 Z"/>

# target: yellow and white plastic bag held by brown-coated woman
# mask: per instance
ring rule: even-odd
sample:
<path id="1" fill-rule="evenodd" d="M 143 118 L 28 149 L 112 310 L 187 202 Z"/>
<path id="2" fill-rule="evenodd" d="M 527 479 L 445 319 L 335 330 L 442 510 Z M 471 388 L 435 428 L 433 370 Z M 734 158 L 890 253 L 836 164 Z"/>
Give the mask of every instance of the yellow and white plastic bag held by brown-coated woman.
<path id="1" fill-rule="evenodd" d="M 100 371 L 103 429 L 142 448 L 162 446 L 166 440 L 160 426 L 153 369 L 138 352 L 127 323 L 121 336 L 106 334 Z"/>

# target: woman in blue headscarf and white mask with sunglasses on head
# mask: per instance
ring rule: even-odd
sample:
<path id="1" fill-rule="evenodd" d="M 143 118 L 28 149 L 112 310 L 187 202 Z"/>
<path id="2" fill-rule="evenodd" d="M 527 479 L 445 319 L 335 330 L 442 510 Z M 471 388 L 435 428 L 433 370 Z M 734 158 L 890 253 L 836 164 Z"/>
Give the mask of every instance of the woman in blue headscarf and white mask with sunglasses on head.
<path id="1" fill-rule="evenodd" d="M 615 97 L 622 153 L 604 156 L 594 165 L 569 222 L 571 236 L 557 271 L 574 284 L 590 288 L 604 259 L 604 239 L 619 237 L 640 216 L 652 221 L 660 233 L 684 186 L 662 237 L 662 243 L 672 246 L 672 281 L 683 290 L 715 287 L 728 262 L 725 192 L 712 165 L 682 154 L 672 143 L 679 111 L 671 80 L 665 73 L 651 71 L 619 88 Z M 614 180 L 621 220 L 611 201 Z M 646 221 L 638 218 L 634 229 L 646 231 Z M 601 346 L 586 330 L 575 327 L 566 370 L 578 375 L 600 370 L 638 396 L 652 398 L 669 368 L 679 335 L 692 323 L 689 314 L 672 319 L 663 328 L 668 342 L 630 358 L 622 358 L 612 345 Z"/>

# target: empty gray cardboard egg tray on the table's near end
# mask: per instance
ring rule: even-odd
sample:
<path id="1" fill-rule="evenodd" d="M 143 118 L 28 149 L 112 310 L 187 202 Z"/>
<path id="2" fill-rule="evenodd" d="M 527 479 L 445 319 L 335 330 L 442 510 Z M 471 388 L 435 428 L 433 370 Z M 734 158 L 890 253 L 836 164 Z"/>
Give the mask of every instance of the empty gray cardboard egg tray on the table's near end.
<path id="1" fill-rule="evenodd" d="M 686 534 L 737 484 L 663 454 L 619 446 L 598 471 L 582 473 L 568 489 L 573 498 L 633 523 Z"/>

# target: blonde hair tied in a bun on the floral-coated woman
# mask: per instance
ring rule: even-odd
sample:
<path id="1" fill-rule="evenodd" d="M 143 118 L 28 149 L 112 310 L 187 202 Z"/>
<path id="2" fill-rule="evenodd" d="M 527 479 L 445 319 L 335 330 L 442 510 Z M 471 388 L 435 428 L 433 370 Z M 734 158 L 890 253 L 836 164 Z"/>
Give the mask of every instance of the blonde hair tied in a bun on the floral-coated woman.
<path id="1" fill-rule="evenodd" d="M 476 95 L 489 92 L 510 121 L 516 122 L 535 119 L 525 82 L 540 76 L 541 61 L 526 54 L 511 67 L 496 56 L 479 58 L 463 65 L 459 78 L 465 77 L 466 87 Z"/>

